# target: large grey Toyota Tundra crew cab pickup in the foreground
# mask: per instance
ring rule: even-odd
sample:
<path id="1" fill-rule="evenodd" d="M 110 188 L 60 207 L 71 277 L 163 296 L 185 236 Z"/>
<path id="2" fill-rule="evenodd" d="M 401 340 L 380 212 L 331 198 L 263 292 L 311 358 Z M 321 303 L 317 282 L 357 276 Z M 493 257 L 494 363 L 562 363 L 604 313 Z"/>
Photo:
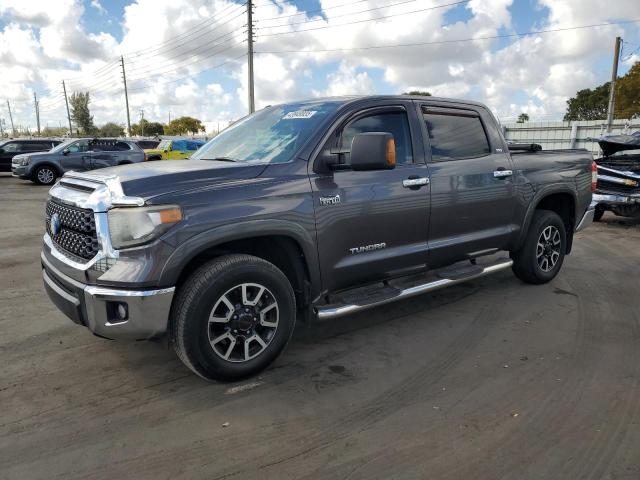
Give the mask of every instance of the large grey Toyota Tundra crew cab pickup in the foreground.
<path id="1" fill-rule="evenodd" d="M 207 379 L 267 367 L 326 320 L 512 268 L 553 279 L 593 218 L 585 150 L 512 146 L 479 103 L 265 108 L 191 160 L 67 173 L 42 250 L 53 303 L 98 336 L 165 336 Z"/>

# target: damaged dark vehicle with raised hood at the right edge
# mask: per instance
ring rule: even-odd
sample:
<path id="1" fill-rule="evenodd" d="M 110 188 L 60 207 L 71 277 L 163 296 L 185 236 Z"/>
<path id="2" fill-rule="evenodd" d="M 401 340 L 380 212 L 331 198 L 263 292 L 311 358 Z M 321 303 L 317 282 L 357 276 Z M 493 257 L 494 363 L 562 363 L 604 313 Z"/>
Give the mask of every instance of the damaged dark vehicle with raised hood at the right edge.
<path id="1" fill-rule="evenodd" d="M 605 211 L 621 217 L 640 217 L 640 131 L 631 135 L 607 135 L 598 140 L 602 157 L 598 164 L 597 202 L 594 220 Z"/>

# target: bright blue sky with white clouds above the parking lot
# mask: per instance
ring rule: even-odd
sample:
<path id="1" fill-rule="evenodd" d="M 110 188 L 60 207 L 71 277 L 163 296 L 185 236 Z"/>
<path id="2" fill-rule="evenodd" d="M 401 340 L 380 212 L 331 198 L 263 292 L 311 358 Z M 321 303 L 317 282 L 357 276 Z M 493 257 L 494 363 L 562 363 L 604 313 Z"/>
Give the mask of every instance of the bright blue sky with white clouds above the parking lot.
<path id="1" fill-rule="evenodd" d="M 616 36 L 621 73 L 640 60 L 638 0 L 254 4 L 258 108 L 424 89 L 484 101 L 503 121 L 561 119 L 568 97 L 609 78 Z M 91 92 L 96 124 L 124 124 L 122 55 L 132 122 L 144 109 L 223 127 L 247 111 L 246 23 L 241 0 L 0 0 L 0 119 L 9 100 L 33 128 L 35 91 L 42 125 L 64 125 L 65 80 Z M 541 30 L 562 31 L 516 35 Z"/>

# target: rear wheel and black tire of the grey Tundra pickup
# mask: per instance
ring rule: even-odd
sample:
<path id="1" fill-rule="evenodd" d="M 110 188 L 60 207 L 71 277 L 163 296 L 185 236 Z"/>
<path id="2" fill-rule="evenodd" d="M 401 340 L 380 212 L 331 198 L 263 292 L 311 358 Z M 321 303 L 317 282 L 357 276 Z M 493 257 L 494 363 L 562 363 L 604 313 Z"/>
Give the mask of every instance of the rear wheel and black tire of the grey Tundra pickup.
<path id="1" fill-rule="evenodd" d="M 543 233 L 551 235 L 550 243 Z M 556 239 L 559 244 L 554 243 Z M 542 253 L 539 242 L 543 243 Z M 522 248 L 511 253 L 513 272 L 525 283 L 540 285 L 550 282 L 562 268 L 566 251 L 567 234 L 560 216 L 549 210 L 536 210 Z"/>

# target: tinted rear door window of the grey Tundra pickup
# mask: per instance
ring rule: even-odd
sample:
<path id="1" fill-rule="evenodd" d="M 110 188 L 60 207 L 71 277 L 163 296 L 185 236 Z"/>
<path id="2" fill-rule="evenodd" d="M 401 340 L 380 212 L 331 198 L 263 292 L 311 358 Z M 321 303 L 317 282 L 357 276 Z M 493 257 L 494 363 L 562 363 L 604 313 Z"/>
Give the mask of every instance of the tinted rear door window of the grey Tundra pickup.
<path id="1" fill-rule="evenodd" d="M 431 158 L 434 162 L 477 158 L 491 153 L 482 121 L 471 110 L 444 113 L 423 108 L 423 118 L 429 133 Z"/>

